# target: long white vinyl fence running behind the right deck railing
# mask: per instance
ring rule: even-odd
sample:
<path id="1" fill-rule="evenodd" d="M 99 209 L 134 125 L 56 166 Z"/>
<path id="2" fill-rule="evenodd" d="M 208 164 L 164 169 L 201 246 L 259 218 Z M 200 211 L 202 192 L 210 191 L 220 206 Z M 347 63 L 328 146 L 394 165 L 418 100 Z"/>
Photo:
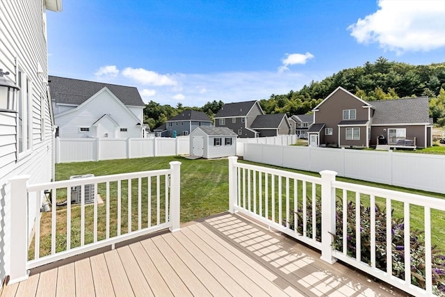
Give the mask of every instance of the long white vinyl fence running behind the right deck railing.
<path id="1" fill-rule="evenodd" d="M 445 193 L 445 156 L 245 143 L 246 161 Z"/>

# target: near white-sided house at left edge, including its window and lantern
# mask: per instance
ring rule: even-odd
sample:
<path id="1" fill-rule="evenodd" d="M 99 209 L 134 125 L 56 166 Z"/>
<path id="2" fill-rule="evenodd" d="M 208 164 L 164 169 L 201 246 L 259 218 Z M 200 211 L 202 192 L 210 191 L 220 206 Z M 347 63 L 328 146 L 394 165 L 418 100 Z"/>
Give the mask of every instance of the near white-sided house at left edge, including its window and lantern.
<path id="1" fill-rule="evenodd" d="M 39 215 L 31 207 L 28 218 L 11 216 L 11 204 L 17 201 L 11 198 L 11 182 L 17 175 L 29 176 L 30 184 L 54 177 L 47 10 L 61 11 L 61 0 L 0 1 L 0 284 L 14 274 L 14 228 L 27 224 L 31 242 Z M 36 199 L 43 201 L 44 194 L 29 195 L 28 202 L 35 204 Z"/>

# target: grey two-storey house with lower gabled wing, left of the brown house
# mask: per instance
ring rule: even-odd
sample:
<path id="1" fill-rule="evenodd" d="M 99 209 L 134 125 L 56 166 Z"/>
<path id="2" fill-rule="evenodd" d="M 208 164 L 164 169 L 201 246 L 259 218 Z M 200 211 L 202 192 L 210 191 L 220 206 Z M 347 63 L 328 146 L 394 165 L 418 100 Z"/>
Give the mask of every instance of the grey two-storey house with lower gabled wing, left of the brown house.
<path id="1" fill-rule="evenodd" d="M 257 101 L 225 104 L 215 115 L 215 127 L 227 127 L 241 138 L 289 134 L 291 129 L 284 113 L 265 115 Z"/>

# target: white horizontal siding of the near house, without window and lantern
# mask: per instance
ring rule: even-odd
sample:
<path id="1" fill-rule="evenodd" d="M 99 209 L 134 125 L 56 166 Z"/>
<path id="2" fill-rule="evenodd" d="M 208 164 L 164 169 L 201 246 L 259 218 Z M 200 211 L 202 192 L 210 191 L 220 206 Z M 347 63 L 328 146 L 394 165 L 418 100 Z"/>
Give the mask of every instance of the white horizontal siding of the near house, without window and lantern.
<path id="1" fill-rule="evenodd" d="M 16 155 L 16 114 L 0 113 L 0 281 L 10 267 L 10 184 L 17 175 L 31 175 L 32 184 L 51 181 L 52 122 L 47 86 L 47 40 L 42 1 L 0 1 L 0 67 L 15 81 L 17 67 L 31 86 L 31 149 Z M 15 61 L 17 58 L 17 62 Z M 38 74 L 38 65 L 43 73 Z M 44 118 L 44 120 L 42 120 Z M 31 197 L 30 202 L 35 198 Z M 29 211 L 29 233 L 35 218 Z M 26 219 L 26 218 L 24 218 Z"/>

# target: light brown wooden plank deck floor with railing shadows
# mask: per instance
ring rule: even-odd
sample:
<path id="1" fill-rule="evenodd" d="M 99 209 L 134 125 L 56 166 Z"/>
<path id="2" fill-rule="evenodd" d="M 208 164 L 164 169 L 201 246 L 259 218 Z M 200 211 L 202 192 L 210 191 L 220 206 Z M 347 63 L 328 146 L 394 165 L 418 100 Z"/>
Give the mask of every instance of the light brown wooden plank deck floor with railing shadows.
<path id="1" fill-rule="evenodd" d="M 241 216 L 223 214 L 31 271 L 3 296 L 403 296 Z"/>

